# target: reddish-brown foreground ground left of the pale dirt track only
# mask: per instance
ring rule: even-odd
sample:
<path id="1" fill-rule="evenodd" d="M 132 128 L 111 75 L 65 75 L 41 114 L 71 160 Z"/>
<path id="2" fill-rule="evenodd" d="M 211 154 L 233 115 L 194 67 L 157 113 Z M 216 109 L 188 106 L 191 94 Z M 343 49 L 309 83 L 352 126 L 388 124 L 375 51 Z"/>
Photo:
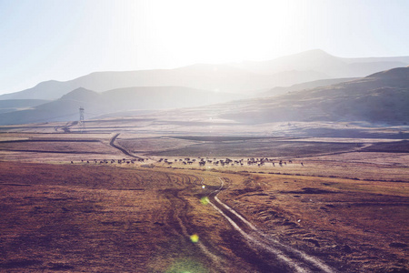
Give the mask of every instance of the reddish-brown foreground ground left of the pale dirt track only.
<path id="1" fill-rule="evenodd" d="M 0 270 L 257 271 L 200 202 L 195 172 L 17 162 L 0 171 Z M 218 187 L 205 177 L 206 190 Z"/>

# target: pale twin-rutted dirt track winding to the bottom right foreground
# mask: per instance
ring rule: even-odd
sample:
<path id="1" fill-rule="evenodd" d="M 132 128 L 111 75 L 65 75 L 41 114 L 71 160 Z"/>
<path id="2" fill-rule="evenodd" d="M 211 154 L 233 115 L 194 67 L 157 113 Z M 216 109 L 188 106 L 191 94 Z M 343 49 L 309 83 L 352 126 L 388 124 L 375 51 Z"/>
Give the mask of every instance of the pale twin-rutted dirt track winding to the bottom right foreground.
<path id="1" fill-rule="evenodd" d="M 283 271 L 291 272 L 336 272 L 318 258 L 314 258 L 303 251 L 280 243 L 274 238 L 266 236 L 262 231 L 254 227 L 249 221 L 238 214 L 233 208 L 225 205 L 217 195 L 224 187 L 224 181 L 221 181 L 219 189 L 214 190 L 209 196 L 209 204 L 219 212 L 234 227 L 236 231 L 245 239 L 250 248 L 261 254 L 264 258 L 274 258 L 279 263 Z M 265 260 L 265 263 L 272 268 L 277 268 L 271 260 Z"/>

